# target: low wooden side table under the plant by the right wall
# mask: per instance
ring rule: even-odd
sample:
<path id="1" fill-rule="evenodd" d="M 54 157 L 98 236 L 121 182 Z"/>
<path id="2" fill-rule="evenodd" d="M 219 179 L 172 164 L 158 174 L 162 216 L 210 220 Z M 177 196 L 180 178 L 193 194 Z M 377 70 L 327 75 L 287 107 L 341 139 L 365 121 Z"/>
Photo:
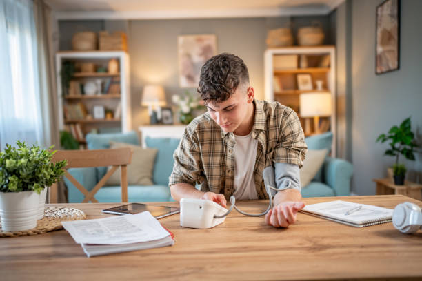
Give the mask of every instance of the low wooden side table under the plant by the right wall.
<path id="1" fill-rule="evenodd" d="M 374 178 L 373 181 L 376 183 L 376 194 L 378 195 L 401 194 L 416 200 L 422 200 L 422 185 L 418 183 L 405 180 L 404 185 L 394 185 L 394 181 L 390 178 Z"/>

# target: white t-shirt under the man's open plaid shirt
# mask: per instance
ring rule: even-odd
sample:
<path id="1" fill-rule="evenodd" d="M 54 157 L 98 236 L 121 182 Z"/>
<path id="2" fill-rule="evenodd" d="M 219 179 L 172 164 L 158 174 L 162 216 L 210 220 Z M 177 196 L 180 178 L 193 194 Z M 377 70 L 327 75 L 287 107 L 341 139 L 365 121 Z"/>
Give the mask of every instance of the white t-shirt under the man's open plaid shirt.
<path id="1" fill-rule="evenodd" d="M 234 135 L 234 197 L 237 200 L 258 199 L 254 182 L 254 167 L 257 159 L 258 141 L 248 136 Z"/>

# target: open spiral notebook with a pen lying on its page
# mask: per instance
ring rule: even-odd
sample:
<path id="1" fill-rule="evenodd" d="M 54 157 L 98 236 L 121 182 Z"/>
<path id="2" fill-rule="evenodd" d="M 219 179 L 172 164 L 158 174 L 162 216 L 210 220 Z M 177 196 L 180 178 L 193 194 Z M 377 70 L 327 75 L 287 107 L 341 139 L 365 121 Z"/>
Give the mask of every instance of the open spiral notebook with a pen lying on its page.
<path id="1" fill-rule="evenodd" d="M 342 200 L 306 205 L 303 213 L 352 227 L 368 227 L 391 222 L 392 209 Z"/>

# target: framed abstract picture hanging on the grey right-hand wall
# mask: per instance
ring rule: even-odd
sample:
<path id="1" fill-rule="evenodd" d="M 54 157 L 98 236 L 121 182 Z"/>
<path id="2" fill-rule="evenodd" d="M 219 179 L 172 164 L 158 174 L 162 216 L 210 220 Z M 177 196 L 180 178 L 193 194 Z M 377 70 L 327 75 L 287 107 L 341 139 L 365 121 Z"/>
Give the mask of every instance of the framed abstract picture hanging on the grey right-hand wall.
<path id="1" fill-rule="evenodd" d="M 400 1 L 376 7 L 376 74 L 399 69 Z"/>

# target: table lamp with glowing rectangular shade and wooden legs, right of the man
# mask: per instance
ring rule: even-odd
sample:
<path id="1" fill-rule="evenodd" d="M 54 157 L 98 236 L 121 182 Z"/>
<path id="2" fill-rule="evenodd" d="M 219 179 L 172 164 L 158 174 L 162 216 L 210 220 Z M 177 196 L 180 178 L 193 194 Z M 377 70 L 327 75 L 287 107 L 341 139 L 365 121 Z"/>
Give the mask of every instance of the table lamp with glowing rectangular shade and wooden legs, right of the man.
<path id="1" fill-rule="evenodd" d="M 319 134 L 319 117 L 331 116 L 331 94 L 330 92 L 309 92 L 299 97 L 300 114 L 302 118 L 313 117 L 315 133 Z M 305 120 L 305 134 L 310 134 L 309 119 Z"/>

